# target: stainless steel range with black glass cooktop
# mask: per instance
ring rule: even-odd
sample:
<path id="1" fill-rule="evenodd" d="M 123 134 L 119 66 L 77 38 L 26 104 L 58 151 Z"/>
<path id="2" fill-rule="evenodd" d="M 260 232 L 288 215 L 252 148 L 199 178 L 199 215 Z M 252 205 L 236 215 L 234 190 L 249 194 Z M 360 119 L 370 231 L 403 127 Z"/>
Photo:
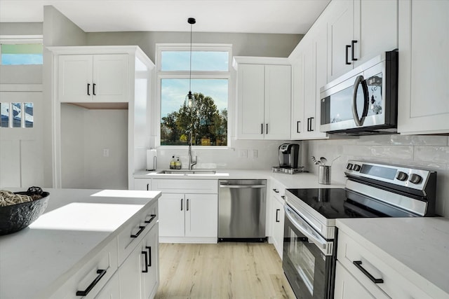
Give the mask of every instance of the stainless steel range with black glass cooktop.
<path id="1" fill-rule="evenodd" d="M 434 216 L 436 172 L 349 160 L 345 188 L 287 189 L 283 270 L 297 298 L 333 298 L 337 218 Z"/>

